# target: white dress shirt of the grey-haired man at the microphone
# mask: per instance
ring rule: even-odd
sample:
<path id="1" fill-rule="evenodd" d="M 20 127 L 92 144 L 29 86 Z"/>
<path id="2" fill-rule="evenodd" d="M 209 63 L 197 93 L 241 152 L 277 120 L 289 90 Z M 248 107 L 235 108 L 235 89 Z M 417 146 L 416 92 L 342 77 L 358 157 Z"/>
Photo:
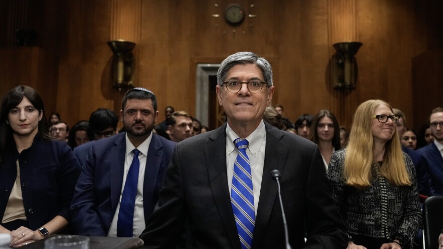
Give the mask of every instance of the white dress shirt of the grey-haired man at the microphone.
<path id="1" fill-rule="evenodd" d="M 228 187 L 231 194 L 232 176 L 234 174 L 234 163 L 238 155 L 238 150 L 234 145 L 234 140 L 239 136 L 229 126 L 226 126 L 226 169 L 228 174 Z M 254 193 L 254 211 L 257 216 L 258 200 L 260 198 L 261 180 L 263 176 L 263 165 L 265 161 L 266 149 L 266 128 L 263 120 L 258 125 L 257 129 L 248 137 L 249 145 L 246 149 L 246 154 L 251 163 L 252 174 L 252 191 Z"/>

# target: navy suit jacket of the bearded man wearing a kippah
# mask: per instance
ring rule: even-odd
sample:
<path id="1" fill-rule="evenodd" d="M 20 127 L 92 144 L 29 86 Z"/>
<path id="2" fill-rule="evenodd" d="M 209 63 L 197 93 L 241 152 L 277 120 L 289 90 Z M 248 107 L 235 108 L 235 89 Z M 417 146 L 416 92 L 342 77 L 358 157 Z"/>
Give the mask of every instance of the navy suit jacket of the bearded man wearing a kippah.
<path id="1" fill-rule="evenodd" d="M 107 236 L 123 183 L 125 132 L 91 144 L 71 203 L 72 224 L 81 235 Z M 153 134 L 143 184 L 145 221 L 154 210 L 175 142 Z"/>

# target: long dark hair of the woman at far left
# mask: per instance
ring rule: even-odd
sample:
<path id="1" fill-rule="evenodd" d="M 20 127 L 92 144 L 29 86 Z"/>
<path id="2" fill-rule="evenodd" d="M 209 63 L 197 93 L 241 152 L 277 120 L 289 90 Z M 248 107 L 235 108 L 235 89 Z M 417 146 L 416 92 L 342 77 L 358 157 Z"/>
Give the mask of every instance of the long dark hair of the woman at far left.
<path id="1" fill-rule="evenodd" d="M 29 102 L 38 110 L 39 115 L 43 112 L 42 119 L 38 122 L 38 137 L 44 140 L 51 140 L 51 137 L 47 133 L 47 123 L 45 117 L 45 107 L 40 95 L 33 88 L 28 86 L 18 86 L 5 94 L 2 100 L 2 107 L 0 109 L 0 162 L 4 156 L 5 149 L 15 144 L 13 142 L 13 130 L 8 121 L 8 114 L 14 107 L 18 106 L 26 97 Z"/>

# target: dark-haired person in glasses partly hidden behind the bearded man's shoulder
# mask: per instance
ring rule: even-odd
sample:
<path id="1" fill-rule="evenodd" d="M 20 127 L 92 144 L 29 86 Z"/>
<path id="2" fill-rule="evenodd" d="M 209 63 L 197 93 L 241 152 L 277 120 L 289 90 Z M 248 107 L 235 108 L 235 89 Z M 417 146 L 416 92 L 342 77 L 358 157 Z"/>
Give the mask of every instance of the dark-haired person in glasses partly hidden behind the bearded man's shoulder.
<path id="1" fill-rule="evenodd" d="M 89 127 L 94 133 L 94 141 L 105 137 L 115 135 L 117 130 L 118 117 L 113 111 L 105 108 L 99 108 L 89 117 Z M 74 154 L 79 159 L 80 165 L 85 165 L 86 155 L 92 142 L 79 145 L 74 148 Z"/>

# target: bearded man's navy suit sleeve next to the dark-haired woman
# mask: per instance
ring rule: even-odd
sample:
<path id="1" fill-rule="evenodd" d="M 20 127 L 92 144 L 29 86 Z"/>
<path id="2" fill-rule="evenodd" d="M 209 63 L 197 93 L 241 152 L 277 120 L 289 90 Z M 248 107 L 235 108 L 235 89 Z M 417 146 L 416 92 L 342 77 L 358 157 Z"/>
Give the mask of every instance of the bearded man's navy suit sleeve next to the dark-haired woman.
<path id="1" fill-rule="evenodd" d="M 71 203 L 72 225 L 80 235 L 106 236 L 97 214 L 94 195 L 95 158 L 92 146 L 86 158 Z"/>

